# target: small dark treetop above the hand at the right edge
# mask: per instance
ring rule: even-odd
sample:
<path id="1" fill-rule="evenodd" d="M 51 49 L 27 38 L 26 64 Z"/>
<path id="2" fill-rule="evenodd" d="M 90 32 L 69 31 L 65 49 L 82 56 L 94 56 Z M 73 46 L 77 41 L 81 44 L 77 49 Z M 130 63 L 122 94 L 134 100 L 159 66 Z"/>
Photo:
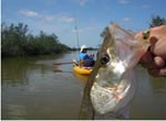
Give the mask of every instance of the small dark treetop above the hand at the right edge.
<path id="1" fill-rule="evenodd" d="M 152 21 L 149 23 L 149 28 L 159 26 L 166 24 L 166 19 L 160 18 L 159 15 L 152 16 Z"/>

